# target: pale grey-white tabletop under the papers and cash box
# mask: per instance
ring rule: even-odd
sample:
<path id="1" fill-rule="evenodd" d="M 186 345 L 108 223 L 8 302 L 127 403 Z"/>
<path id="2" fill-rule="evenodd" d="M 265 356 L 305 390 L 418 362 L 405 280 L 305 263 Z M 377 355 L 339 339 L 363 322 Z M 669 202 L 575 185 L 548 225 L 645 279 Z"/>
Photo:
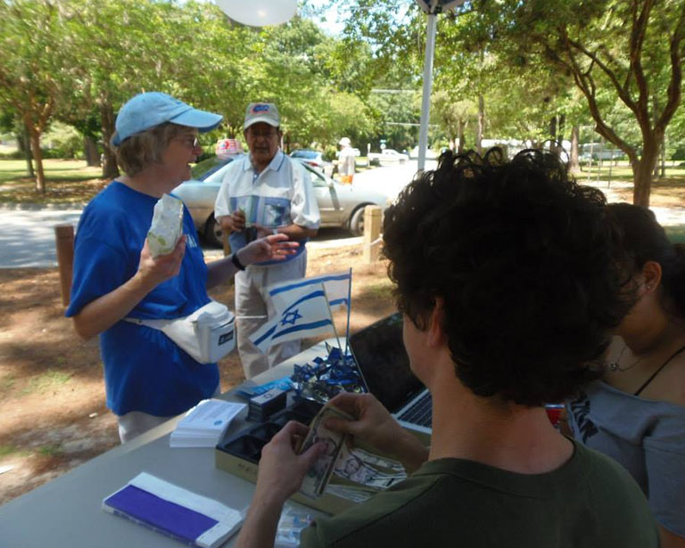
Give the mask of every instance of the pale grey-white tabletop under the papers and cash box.
<path id="1" fill-rule="evenodd" d="M 264 372 L 246 385 L 262 384 L 325 356 L 319 343 Z M 244 400 L 228 392 L 231 401 Z M 237 432 L 245 425 L 247 410 L 230 427 Z M 157 548 L 183 544 L 101 510 L 103 498 L 111 495 L 145 471 L 198 495 L 242 509 L 252 500 L 254 485 L 219 470 L 213 447 L 169 447 L 169 433 L 180 416 L 146 432 L 128 444 L 115 447 L 60 478 L 0 506 L 0 546 L 7 548 Z M 311 511 L 311 510 L 309 510 Z M 311 511 L 318 513 L 316 511 Z M 235 536 L 225 544 L 232 546 Z"/>

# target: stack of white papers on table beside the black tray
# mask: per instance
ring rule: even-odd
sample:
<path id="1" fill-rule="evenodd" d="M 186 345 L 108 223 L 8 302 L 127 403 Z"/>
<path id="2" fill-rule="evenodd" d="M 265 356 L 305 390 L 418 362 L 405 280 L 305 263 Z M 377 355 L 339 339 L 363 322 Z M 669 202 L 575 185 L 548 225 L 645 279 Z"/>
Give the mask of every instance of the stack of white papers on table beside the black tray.
<path id="1" fill-rule="evenodd" d="M 221 399 L 203 399 L 178 421 L 171 432 L 172 447 L 213 447 L 219 443 L 236 414 L 243 411 L 244 404 L 234 404 Z"/>

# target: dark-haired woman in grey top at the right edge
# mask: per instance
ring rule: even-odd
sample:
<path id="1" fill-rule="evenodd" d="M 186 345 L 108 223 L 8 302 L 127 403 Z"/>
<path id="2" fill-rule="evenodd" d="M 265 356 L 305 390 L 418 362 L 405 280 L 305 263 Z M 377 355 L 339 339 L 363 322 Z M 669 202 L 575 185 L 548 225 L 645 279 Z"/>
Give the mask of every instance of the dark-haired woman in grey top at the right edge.
<path id="1" fill-rule="evenodd" d="M 621 462 L 648 496 L 662 546 L 685 546 L 685 249 L 649 209 L 607 206 L 625 287 L 636 299 L 607 351 L 603 380 L 568 405 L 585 445 Z"/>

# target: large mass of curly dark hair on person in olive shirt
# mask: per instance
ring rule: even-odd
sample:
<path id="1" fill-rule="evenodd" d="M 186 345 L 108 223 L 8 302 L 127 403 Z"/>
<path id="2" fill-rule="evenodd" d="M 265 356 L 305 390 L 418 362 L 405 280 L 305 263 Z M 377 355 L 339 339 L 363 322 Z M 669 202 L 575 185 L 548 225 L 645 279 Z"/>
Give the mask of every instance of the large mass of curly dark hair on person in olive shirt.
<path id="1" fill-rule="evenodd" d="M 519 405 L 561 401 L 601 375 L 631 306 L 614 242 L 604 194 L 540 150 L 447 152 L 384 219 L 400 311 L 423 330 L 442 298 L 459 380 Z"/>

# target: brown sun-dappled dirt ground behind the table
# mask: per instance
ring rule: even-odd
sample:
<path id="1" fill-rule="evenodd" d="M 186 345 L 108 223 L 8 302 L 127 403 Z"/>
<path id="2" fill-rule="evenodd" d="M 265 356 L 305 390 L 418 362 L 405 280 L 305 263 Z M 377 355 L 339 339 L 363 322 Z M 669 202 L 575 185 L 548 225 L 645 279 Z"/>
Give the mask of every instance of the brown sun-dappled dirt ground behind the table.
<path id="1" fill-rule="evenodd" d="M 361 246 L 310 249 L 308 275 L 353 268 L 351 331 L 392 313 L 385 264 L 362 264 Z M 0 270 L 0 504 L 119 444 L 104 405 L 96 339 L 78 339 L 63 316 L 56 269 Z M 233 308 L 233 286 L 211 296 Z M 344 335 L 346 315 L 335 314 Z M 315 340 L 303 341 L 303 347 Z M 219 363 L 222 390 L 243 380 L 234 351 Z"/>

